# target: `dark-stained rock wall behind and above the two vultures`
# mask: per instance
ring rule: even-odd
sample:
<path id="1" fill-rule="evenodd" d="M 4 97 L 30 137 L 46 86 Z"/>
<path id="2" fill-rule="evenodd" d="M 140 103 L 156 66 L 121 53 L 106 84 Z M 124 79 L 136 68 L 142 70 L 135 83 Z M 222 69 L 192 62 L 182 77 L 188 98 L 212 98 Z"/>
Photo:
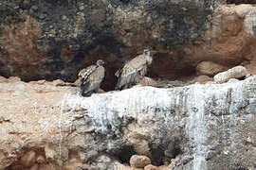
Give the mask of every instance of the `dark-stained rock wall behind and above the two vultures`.
<path id="1" fill-rule="evenodd" d="M 194 76 L 201 61 L 230 68 L 247 60 L 256 73 L 255 11 L 216 0 L 2 1 L 0 75 L 74 81 L 104 59 L 102 89 L 113 90 L 122 63 L 148 47 L 154 78 Z"/>

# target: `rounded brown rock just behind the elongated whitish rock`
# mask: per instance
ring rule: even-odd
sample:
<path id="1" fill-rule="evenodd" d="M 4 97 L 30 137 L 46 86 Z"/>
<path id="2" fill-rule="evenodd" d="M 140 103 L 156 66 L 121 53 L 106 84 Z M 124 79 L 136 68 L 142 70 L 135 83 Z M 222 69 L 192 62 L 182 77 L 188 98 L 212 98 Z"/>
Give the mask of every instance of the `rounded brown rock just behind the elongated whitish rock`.
<path id="1" fill-rule="evenodd" d="M 225 70 L 225 66 L 210 61 L 202 61 L 196 66 L 197 75 L 214 76 Z"/>

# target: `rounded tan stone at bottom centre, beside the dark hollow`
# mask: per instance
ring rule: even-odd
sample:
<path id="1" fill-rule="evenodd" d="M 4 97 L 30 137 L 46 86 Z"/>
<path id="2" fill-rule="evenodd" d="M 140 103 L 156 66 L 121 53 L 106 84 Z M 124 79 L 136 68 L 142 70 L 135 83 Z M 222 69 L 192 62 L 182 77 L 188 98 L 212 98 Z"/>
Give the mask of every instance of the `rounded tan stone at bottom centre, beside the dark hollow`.
<path id="1" fill-rule="evenodd" d="M 142 155 L 133 155 L 130 159 L 130 164 L 135 168 L 143 168 L 148 164 L 151 164 L 151 161 L 148 157 Z"/>

